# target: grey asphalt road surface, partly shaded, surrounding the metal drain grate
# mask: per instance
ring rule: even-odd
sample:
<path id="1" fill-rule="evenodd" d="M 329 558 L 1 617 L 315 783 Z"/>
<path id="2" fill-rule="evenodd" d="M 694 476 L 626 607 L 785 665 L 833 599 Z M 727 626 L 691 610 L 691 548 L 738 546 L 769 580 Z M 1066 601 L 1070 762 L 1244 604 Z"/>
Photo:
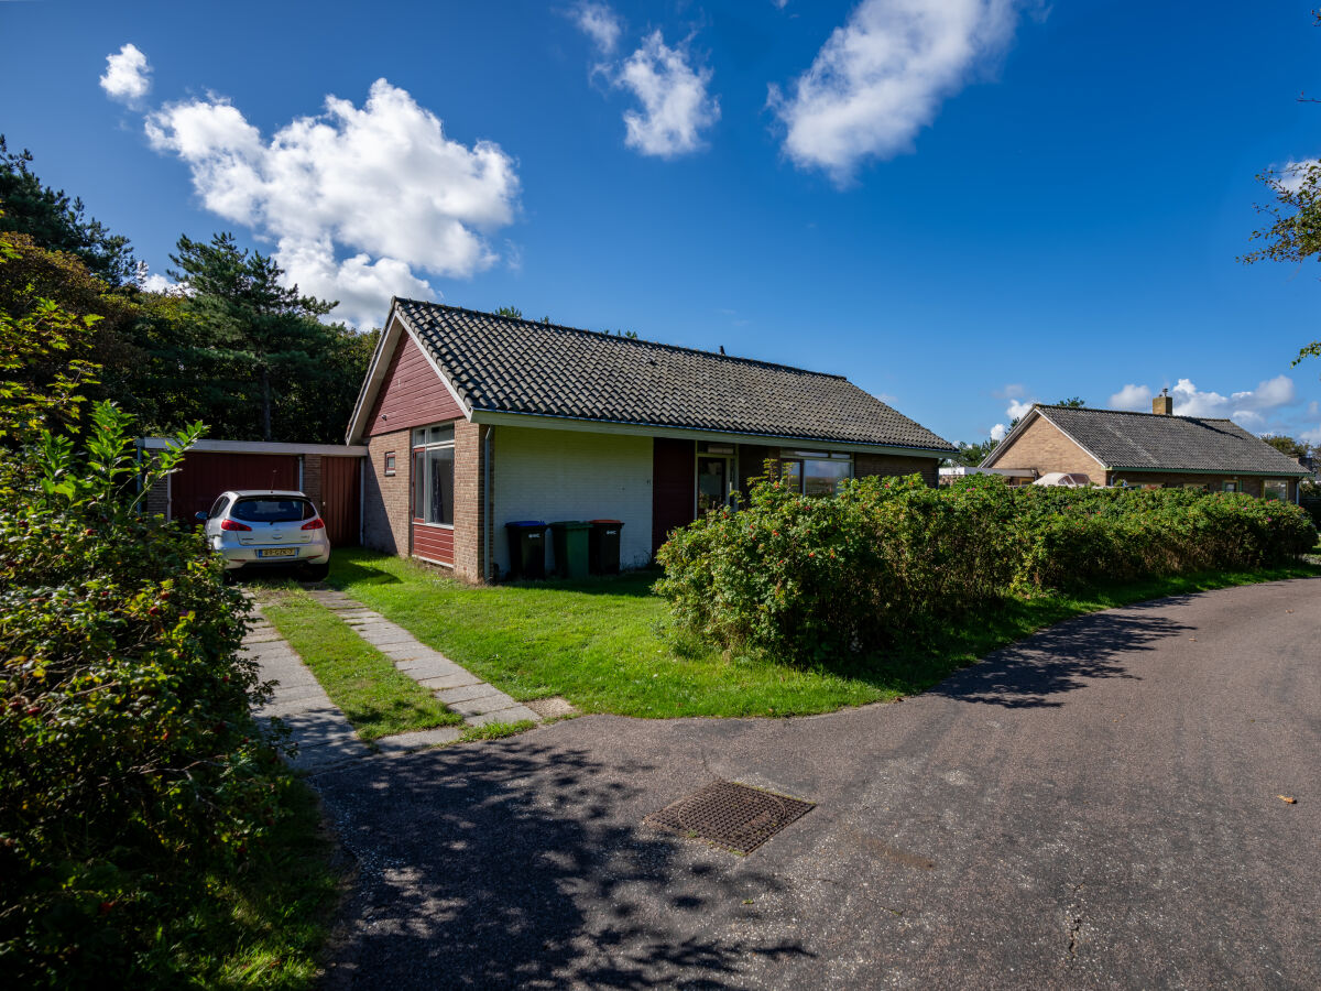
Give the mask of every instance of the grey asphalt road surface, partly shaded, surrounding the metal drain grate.
<path id="1" fill-rule="evenodd" d="M 641 825 L 712 778 L 818 807 L 746 858 Z M 314 782 L 359 868 L 330 987 L 1321 986 L 1321 580 L 1070 621 L 896 704 Z"/>

